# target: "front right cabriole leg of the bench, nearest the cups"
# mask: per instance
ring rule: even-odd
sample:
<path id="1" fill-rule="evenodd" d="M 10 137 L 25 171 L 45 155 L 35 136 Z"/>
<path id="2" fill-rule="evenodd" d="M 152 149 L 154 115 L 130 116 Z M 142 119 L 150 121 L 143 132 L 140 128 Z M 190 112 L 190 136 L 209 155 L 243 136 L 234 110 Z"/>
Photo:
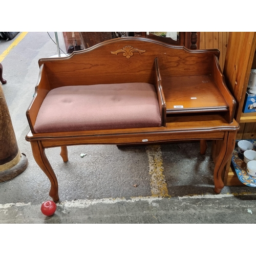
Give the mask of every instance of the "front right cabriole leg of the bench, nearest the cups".
<path id="1" fill-rule="evenodd" d="M 215 185 L 214 190 L 217 194 L 220 194 L 222 188 L 224 187 L 223 170 L 234 150 L 234 146 L 236 144 L 236 134 L 237 134 L 237 131 L 226 132 L 224 139 L 222 141 L 220 154 L 218 156 L 217 162 L 215 164 L 215 169 L 214 169 L 214 185 Z"/>

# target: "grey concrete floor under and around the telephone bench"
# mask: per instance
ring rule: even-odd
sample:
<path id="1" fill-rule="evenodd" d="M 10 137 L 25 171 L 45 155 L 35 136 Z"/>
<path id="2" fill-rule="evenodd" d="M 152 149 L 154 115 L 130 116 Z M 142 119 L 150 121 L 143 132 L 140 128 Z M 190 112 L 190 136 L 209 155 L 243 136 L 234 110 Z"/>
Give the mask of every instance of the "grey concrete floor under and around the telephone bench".
<path id="1" fill-rule="evenodd" d="M 21 33 L 19 33 L 20 35 Z M 13 40 L 0 42 L 2 54 Z M 53 39 L 54 33 L 50 32 Z M 61 33 L 60 48 L 65 51 Z M 51 200 L 50 183 L 35 163 L 26 110 L 34 94 L 38 59 L 57 54 L 47 32 L 29 32 L 2 61 L 2 85 L 19 150 L 29 165 L 14 179 L 0 183 L 0 223 L 255 223 L 255 188 L 224 187 L 214 193 L 211 142 L 204 156 L 199 143 L 122 147 L 70 146 L 69 162 L 59 148 L 47 156 L 59 181 L 57 210 L 41 214 Z M 86 156 L 80 157 L 84 153 Z M 158 165 L 158 182 L 152 174 Z M 137 185 L 137 186 L 136 186 Z M 249 212 L 248 210 L 251 210 Z"/>

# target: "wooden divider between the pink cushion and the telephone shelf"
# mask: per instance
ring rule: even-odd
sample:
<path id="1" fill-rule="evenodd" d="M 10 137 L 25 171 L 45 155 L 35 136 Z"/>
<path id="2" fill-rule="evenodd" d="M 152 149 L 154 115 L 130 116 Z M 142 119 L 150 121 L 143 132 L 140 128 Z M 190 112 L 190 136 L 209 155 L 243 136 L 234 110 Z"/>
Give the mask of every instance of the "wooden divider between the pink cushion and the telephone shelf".
<path id="1" fill-rule="evenodd" d="M 158 65 L 158 57 L 155 58 L 155 87 L 159 103 L 162 126 L 166 126 L 166 102 L 163 94 L 162 78 Z"/>

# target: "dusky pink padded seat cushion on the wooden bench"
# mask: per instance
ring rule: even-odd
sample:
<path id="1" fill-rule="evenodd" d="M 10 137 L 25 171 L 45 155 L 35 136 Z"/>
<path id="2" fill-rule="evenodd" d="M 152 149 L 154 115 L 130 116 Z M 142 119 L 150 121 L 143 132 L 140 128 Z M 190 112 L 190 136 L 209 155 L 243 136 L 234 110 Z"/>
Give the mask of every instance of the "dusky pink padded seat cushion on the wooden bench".
<path id="1" fill-rule="evenodd" d="M 35 133 L 161 126 L 150 83 L 67 86 L 51 90 L 40 107 Z"/>

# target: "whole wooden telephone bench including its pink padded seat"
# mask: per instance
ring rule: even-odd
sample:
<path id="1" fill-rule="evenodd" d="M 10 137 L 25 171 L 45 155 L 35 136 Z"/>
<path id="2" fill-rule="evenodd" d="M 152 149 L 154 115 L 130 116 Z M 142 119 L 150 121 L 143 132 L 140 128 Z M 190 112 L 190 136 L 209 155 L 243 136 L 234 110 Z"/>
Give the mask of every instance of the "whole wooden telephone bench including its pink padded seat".
<path id="1" fill-rule="evenodd" d="M 61 147 L 66 162 L 67 146 L 79 144 L 218 140 L 214 184 L 220 193 L 239 125 L 218 59 L 217 49 L 191 51 L 141 37 L 39 59 L 26 140 L 50 180 L 53 201 L 58 182 L 45 148 Z"/>

